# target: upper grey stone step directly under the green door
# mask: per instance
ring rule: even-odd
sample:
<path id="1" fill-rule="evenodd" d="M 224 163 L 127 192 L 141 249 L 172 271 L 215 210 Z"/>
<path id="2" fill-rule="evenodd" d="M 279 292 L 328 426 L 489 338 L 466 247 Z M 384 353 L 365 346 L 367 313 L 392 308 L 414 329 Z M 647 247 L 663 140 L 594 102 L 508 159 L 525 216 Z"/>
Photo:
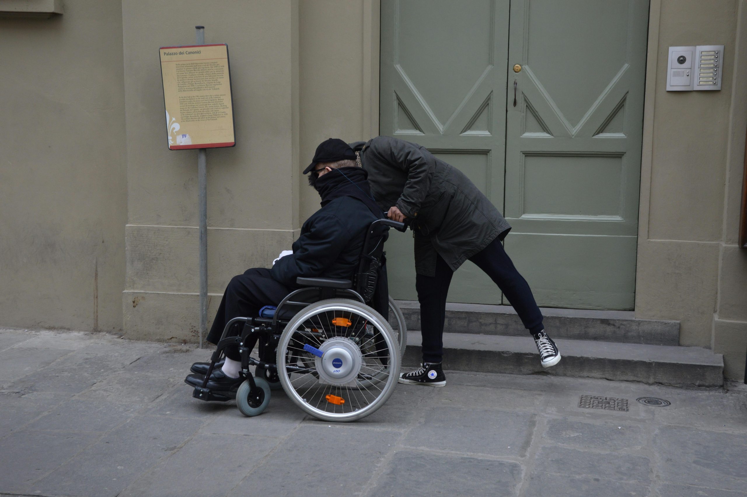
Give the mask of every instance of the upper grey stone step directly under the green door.
<path id="1" fill-rule="evenodd" d="M 420 305 L 397 300 L 408 330 L 420 330 Z M 599 340 L 646 345 L 679 345 L 680 322 L 636 319 L 632 311 L 541 308 L 543 323 L 553 338 Z M 527 336 L 512 306 L 447 303 L 444 331 L 477 335 Z"/>

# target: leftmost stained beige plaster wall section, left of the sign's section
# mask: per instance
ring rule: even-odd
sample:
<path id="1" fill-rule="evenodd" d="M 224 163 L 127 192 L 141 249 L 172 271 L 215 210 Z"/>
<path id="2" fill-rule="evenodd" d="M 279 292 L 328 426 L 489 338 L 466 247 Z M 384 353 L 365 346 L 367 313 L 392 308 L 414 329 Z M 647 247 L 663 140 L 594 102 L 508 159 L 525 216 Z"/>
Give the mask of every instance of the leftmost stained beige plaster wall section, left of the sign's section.
<path id="1" fill-rule="evenodd" d="M 122 9 L 0 19 L 2 326 L 117 332 L 126 220 Z"/>

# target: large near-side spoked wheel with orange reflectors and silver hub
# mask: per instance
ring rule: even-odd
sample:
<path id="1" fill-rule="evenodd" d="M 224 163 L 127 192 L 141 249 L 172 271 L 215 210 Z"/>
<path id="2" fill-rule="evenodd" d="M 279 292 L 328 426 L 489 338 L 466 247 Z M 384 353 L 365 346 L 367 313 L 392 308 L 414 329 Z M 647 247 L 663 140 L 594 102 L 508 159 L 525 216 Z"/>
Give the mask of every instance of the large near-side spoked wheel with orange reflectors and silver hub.
<path id="1" fill-rule="evenodd" d="M 278 376 L 306 413 L 347 422 L 373 413 L 394 391 L 400 344 L 371 307 L 329 299 L 301 310 L 278 344 Z"/>

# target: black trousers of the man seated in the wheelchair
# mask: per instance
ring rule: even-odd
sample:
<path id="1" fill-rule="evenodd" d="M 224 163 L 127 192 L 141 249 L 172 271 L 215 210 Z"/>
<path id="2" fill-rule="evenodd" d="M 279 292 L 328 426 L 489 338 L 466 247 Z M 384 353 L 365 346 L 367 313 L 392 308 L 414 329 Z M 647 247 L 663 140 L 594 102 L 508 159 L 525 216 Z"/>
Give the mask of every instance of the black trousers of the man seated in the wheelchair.
<path id="1" fill-rule="evenodd" d="M 233 318 L 256 317 L 263 306 L 278 305 L 291 291 L 292 288 L 273 280 L 267 268 L 247 269 L 244 274 L 233 277 L 223 292 L 223 299 L 220 300 L 220 307 L 208 333 L 208 342 L 217 345 L 226 323 Z M 244 324 L 232 327 L 226 336 L 237 336 L 243 327 Z M 226 357 L 241 360 L 238 347 L 226 347 Z"/>

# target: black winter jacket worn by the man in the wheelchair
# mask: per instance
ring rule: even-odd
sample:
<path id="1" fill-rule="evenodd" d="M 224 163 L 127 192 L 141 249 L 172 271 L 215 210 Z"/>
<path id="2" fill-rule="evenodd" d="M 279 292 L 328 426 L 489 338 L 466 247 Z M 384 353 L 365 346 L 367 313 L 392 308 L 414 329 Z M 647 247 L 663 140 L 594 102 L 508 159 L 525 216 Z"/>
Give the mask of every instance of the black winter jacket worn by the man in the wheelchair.
<path id="1" fill-rule="evenodd" d="M 366 229 L 376 220 L 354 197 L 339 197 L 306 220 L 293 243 L 293 255 L 280 259 L 271 276 L 291 288 L 297 277 L 352 280 L 358 270 Z"/>

